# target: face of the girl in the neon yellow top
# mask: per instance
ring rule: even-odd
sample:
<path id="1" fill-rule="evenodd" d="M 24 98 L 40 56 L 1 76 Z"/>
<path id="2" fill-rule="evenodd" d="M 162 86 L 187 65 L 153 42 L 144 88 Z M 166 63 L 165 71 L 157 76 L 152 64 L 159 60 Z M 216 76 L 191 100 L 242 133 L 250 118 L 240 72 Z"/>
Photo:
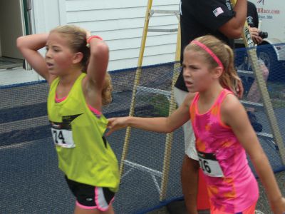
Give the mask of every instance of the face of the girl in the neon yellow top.
<path id="1" fill-rule="evenodd" d="M 73 65 L 75 53 L 68 46 L 68 41 L 56 32 L 48 36 L 46 43 L 46 66 L 51 74 L 58 76 L 68 73 Z"/>

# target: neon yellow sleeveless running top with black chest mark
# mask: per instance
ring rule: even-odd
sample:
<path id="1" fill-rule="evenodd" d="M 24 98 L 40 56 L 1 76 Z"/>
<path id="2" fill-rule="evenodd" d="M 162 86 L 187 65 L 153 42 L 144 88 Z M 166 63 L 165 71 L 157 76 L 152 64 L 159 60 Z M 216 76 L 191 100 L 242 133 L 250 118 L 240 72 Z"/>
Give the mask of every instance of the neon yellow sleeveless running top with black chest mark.
<path id="1" fill-rule="evenodd" d="M 118 190 L 118 161 L 103 137 L 107 119 L 95 116 L 86 104 L 82 90 L 82 73 L 67 98 L 56 103 L 59 78 L 51 83 L 48 93 L 48 119 L 58 153 L 58 167 L 79 183 Z"/>

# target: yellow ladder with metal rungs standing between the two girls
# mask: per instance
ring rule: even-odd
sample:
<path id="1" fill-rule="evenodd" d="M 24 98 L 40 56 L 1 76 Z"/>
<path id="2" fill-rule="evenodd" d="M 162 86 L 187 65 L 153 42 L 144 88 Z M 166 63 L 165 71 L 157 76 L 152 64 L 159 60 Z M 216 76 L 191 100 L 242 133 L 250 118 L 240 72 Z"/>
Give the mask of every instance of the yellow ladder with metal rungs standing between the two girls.
<path id="1" fill-rule="evenodd" d="M 180 24 L 178 24 L 177 29 L 155 29 L 155 28 L 150 28 L 149 27 L 149 21 L 152 16 L 155 14 L 171 14 L 177 17 L 178 22 L 180 21 L 180 16 L 179 16 L 179 11 L 175 10 L 152 10 L 152 0 L 148 0 L 147 2 L 147 11 L 145 13 L 145 24 L 143 28 L 143 33 L 142 33 L 142 41 L 140 45 L 140 54 L 138 57 L 138 67 L 135 73 L 135 83 L 133 86 L 133 94 L 132 94 L 132 99 L 131 99 L 131 104 L 130 104 L 130 112 L 129 116 L 134 115 L 135 111 L 135 97 L 138 92 L 142 91 L 147 91 L 151 93 L 157 93 L 157 94 L 162 94 L 167 96 L 167 99 L 170 101 L 170 108 L 169 108 L 169 115 L 175 111 L 176 109 L 176 103 L 174 100 L 174 84 L 177 80 L 177 77 L 180 73 Z M 140 86 L 140 76 L 142 72 L 142 59 L 143 59 L 143 54 L 145 51 L 145 43 L 147 39 L 147 32 L 164 32 L 164 33 L 173 33 L 177 32 L 177 41 L 176 41 L 176 51 L 175 51 L 175 64 L 173 68 L 173 75 L 172 75 L 172 86 L 171 86 L 171 91 L 165 91 L 161 90 L 158 88 L 147 88 L 144 86 Z M 172 138 L 173 134 L 168 133 L 166 135 L 166 142 L 165 142 L 165 155 L 164 155 L 164 161 L 163 161 L 163 167 L 162 167 L 162 172 L 159 172 L 157 170 L 154 170 L 152 168 L 147 168 L 144 165 L 140 165 L 138 163 L 133 163 L 131 161 L 128 161 L 126 159 L 126 156 L 128 154 L 128 147 L 129 147 L 129 141 L 130 141 L 130 131 L 131 128 L 128 127 L 125 133 L 125 142 L 123 146 L 123 153 L 122 153 L 122 158 L 120 161 L 120 178 L 123 178 L 125 175 L 128 175 L 130 171 L 132 170 L 142 170 L 145 173 L 149 173 L 152 180 L 155 183 L 155 186 L 157 188 L 158 193 L 160 194 L 160 201 L 165 200 L 166 198 L 166 189 L 167 189 L 167 180 L 168 180 L 168 175 L 169 175 L 169 170 L 170 170 L 170 153 L 171 153 L 171 146 L 172 146 Z M 128 170 L 126 173 L 124 173 L 124 167 L 127 165 L 130 170 Z M 124 174 L 123 174 L 124 173 Z M 159 185 L 157 178 L 161 179 L 161 183 Z"/>

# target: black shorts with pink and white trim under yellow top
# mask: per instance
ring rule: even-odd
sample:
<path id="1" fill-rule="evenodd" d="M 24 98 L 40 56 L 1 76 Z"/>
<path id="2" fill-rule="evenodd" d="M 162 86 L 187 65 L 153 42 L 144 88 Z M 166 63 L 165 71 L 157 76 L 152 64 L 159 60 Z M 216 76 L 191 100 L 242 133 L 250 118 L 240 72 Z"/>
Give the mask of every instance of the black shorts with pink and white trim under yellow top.
<path id="1" fill-rule="evenodd" d="M 76 205 L 80 208 L 106 211 L 114 200 L 115 193 L 109 188 L 78 183 L 66 176 L 65 178 L 68 187 L 76 197 Z"/>

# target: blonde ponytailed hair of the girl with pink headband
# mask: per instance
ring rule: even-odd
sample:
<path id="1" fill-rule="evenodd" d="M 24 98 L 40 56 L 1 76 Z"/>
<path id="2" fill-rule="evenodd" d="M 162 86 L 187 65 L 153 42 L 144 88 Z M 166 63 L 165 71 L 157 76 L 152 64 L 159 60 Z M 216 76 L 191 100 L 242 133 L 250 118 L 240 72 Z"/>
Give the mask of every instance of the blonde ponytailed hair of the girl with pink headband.
<path id="1" fill-rule="evenodd" d="M 236 69 L 234 68 L 234 52 L 232 49 L 227 44 L 224 44 L 224 42 L 211 35 L 198 37 L 195 41 L 199 41 L 207 46 L 207 48 L 210 49 L 217 58 L 219 58 L 224 66 L 224 71 L 219 77 L 219 83 L 221 83 L 223 88 L 227 88 L 230 91 L 237 93 L 237 81 L 240 79 L 237 75 Z M 185 51 L 201 53 L 202 56 L 204 56 L 205 61 L 209 64 L 209 68 L 216 68 L 219 66 L 217 61 L 215 61 L 207 51 L 196 44 L 188 44 L 185 47 Z"/>

